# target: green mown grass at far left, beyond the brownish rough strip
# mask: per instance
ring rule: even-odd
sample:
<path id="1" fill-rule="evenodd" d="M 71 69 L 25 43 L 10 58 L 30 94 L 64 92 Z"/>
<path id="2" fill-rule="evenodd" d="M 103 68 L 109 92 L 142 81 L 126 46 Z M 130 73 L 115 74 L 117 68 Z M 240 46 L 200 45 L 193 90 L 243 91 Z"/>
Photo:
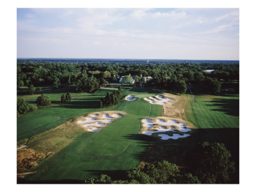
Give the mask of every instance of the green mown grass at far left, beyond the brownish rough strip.
<path id="1" fill-rule="evenodd" d="M 50 97 L 52 106 L 37 109 L 32 113 L 17 118 L 17 141 L 52 129 L 63 124 L 63 122 L 70 118 L 92 113 L 93 111 L 106 110 L 99 109 L 99 99 L 105 97 L 107 91 L 113 92 L 113 90 L 105 88 L 95 93 L 71 93 L 72 100 L 68 103 L 60 102 L 62 93 L 45 93 L 45 95 Z M 49 90 L 49 92 L 51 92 L 51 90 Z M 39 95 L 22 95 L 19 97 L 24 97 L 29 104 L 36 104 L 36 98 L 38 96 Z M 107 110 L 111 109 L 108 108 Z"/>

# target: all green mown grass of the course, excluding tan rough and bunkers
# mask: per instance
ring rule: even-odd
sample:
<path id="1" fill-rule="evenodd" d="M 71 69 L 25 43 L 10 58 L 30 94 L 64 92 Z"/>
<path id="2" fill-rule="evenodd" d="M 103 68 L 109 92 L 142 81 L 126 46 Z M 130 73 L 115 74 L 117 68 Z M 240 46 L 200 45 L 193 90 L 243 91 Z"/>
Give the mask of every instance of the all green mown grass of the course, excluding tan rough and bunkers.
<path id="1" fill-rule="evenodd" d="M 138 166 L 152 141 L 159 147 L 164 143 L 170 143 L 164 150 L 168 150 L 165 155 L 172 157 L 172 163 L 179 164 L 180 159 L 184 159 L 184 151 L 189 150 L 198 141 L 225 143 L 232 155 L 234 154 L 234 160 L 239 162 L 237 160 L 239 159 L 239 129 L 233 129 L 239 127 L 238 95 L 195 95 L 195 100 L 189 101 L 185 113 L 186 118 L 200 129 L 184 140 L 159 141 L 151 140 L 150 137 L 142 136 L 138 132 L 141 127 L 141 118 L 162 115 L 162 106 L 152 105 L 143 100 L 144 97 L 162 93 L 161 90 L 125 88 L 123 96 L 132 94 L 138 99 L 132 102 L 122 99 L 114 108 L 97 108 L 97 100 L 104 97 L 107 91 L 112 92 L 113 88 L 100 89 L 95 93 L 71 93 L 72 102 L 61 104 L 59 101 L 62 91 L 54 90 L 47 93 L 52 100 L 51 107 L 38 109 L 17 118 L 17 140 L 21 140 L 86 113 L 107 110 L 126 112 L 122 118 L 118 118 L 99 132 L 84 132 L 79 135 L 67 147 L 40 164 L 36 168 L 38 173 L 27 175 L 26 179 L 84 180 L 102 173 L 116 175 L 118 179 L 118 174 L 122 171 Z M 31 95 L 23 97 L 28 102 L 35 103 L 36 97 Z M 156 149 L 157 152 L 161 150 L 163 148 Z M 152 154 L 149 156 L 152 157 Z"/>

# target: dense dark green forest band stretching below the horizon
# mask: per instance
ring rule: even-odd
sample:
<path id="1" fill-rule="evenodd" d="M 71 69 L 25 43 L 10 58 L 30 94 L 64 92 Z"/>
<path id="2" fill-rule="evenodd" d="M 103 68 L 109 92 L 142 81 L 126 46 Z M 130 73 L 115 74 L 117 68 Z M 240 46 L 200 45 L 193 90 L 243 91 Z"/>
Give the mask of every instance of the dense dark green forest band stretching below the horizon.
<path id="1" fill-rule="evenodd" d="M 204 72 L 204 70 L 214 70 Z M 238 61 L 182 60 L 17 60 L 17 88 L 52 85 L 54 88 L 74 84 L 74 92 L 93 92 L 104 84 L 118 83 L 120 76 L 152 77 L 147 86 L 185 93 L 189 84 L 202 84 L 209 93 L 219 94 L 221 85 L 236 83 L 238 92 Z M 31 90 L 30 89 L 30 90 Z M 34 90 L 35 92 L 35 90 Z M 19 90 L 18 95 L 27 94 Z M 31 93 L 31 92 L 29 92 Z"/>

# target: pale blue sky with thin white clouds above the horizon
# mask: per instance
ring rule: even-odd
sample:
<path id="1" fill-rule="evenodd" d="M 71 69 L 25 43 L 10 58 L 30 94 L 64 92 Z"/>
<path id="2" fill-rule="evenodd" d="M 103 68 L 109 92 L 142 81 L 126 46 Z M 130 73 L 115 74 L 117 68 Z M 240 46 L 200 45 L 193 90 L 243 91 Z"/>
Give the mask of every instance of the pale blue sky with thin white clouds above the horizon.
<path id="1" fill-rule="evenodd" d="M 239 8 L 17 8 L 17 58 L 239 60 Z"/>

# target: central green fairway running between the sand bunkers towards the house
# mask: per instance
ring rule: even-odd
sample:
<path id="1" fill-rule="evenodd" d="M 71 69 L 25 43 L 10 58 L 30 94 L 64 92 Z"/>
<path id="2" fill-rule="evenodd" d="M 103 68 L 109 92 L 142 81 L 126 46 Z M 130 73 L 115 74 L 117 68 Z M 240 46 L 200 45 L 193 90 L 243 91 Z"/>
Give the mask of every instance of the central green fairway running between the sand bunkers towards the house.
<path id="1" fill-rule="evenodd" d="M 107 90 L 108 89 L 100 90 L 92 96 L 93 99 L 98 98 L 99 96 L 97 95 Z M 109 124 L 99 132 L 84 132 L 67 147 L 38 166 L 36 169 L 38 173 L 28 175 L 26 179 L 83 180 L 97 176 L 102 172 L 129 170 L 138 166 L 141 161 L 141 155 L 145 152 L 149 144 L 149 142 L 141 142 L 134 137 L 134 135 L 140 131 L 140 119 L 148 116 L 161 116 L 163 108 L 162 106 L 149 104 L 147 101 L 143 100 L 143 97 L 152 96 L 161 92 L 147 88 L 127 88 L 123 93 L 124 96 L 134 93 L 139 99 L 133 102 L 123 99 L 120 104 L 114 108 L 102 109 L 102 111 L 116 110 L 126 112 L 122 118 L 118 118 L 115 122 Z M 83 97 L 90 97 L 89 95 L 90 94 L 81 96 L 81 99 L 83 99 Z M 70 108 L 68 108 L 68 105 L 70 105 Z M 93 108 L 83 109 L 83 111 L 79 111 L 79 113 L 83 114 L 77 115 L 77 110 L 80 109 L 72 108 L 71 106 L 72 102 L 60 109 L 58 106 L 52 106 L 47 109 L 49 113 L 52 113 L 52 110 L 56 108 L 56 110 L 59 111 L 59 115 L 65 110 L 76 109 L 73 113 L 69 112 L 68 116 L 79 116 L 93 111 L 100 111 L 99 109 Z M 45 109 L 41 111 L 43 110 Z M 33 113 L 31 113 L 31 115 L 33 115 Z M 38 110 L 38 113 L 40 113 L 40 110 Z M 47 121 L 47 118 L 45 121 Z M 31 124 L 29 122 L 27 123 Z M 49 129 L 51 129 L 52 126 L 53 125 L 49 125 Z"/>

